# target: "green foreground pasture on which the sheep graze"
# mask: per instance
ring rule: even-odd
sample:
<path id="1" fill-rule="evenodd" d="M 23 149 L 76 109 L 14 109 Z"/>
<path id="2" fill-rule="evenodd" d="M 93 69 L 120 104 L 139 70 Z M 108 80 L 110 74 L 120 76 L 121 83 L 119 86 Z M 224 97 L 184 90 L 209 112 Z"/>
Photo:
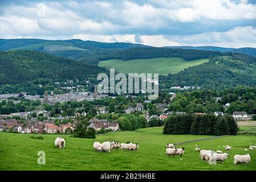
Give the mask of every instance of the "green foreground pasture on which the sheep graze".
<path id="1" fill-rule="evenodd" d="M 118 131 L 97 135 L 96 139 L 71 138 L 68 135 L 42 135 L 43 140 L 30 138 L 32 134 L 0 133 L 0 170 L 256 170 L 256 151 L 244 151 L 256 144 L 255 135 L 229 136 L 201 142 L 186 143 L 185 154 L 165 156 L 166 143 L 184 142 L 205 138 L 203 135 L 163 135 L 162 127 Z M 56 136 L 66 140 L 63 150 L 54 146 Z M 95 141 L 119 140 L 138 142 L 139 150 L 114 150 L 110 153 L 96 152 Z M 224 150 L 223 145 L 232 146 L 224 164 L 202 163 L 195 144 L 203 149 Z M 221 147 L 218 147 L 221 146 Z M 38 151 L 46 152 L 46 164 L 37 164 Z M 251 154 L 247 166 L 234 165 L 235 154 Z"/>

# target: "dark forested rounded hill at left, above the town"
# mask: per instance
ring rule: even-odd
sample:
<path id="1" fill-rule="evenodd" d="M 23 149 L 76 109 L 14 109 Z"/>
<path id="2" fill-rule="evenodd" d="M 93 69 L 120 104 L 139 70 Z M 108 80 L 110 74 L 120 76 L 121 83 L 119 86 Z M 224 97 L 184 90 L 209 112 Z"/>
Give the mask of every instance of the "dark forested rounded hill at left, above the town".
<path id="1" fill-rule="evenodd" d="M 39 78 L 54 81 L 85 79 L 105 72 L 104 68 L 36 51 L 0 51 L 0 85 L 21 84 Z"/>

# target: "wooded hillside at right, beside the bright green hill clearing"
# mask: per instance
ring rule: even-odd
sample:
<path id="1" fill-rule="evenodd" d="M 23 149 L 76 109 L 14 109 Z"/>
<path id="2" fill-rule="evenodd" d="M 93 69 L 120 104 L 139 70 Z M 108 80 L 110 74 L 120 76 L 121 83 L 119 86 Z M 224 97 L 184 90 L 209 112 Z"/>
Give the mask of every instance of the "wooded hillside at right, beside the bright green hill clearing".
<path id="1" fill-rule="evenodd" d="M 163 88 L 170 86 L 202 86 L 203 89 L 233 88 L 237 85 L 256 84 L 256 65 L 233 57 L 216 57 L 177 74 L 161 76 Z"/>

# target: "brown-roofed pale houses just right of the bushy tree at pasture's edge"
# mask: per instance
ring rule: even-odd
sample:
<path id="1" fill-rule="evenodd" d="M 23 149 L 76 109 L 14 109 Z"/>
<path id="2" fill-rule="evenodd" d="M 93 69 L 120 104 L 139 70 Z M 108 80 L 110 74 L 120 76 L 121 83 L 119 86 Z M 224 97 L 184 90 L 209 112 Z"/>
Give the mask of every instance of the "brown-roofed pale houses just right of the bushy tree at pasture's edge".
<path id="1" fill-rule="evenodd" d="M 113 131 L 119 130 L 119 123 L 117 122 L 108 122 L 107 119 L 97 119 L 93 118 L 89 121 L 91 124 L 89 127 L 93 127 L 95 130 L 99 131 L 101 127 L 104 129 L 111 129 Z"/>

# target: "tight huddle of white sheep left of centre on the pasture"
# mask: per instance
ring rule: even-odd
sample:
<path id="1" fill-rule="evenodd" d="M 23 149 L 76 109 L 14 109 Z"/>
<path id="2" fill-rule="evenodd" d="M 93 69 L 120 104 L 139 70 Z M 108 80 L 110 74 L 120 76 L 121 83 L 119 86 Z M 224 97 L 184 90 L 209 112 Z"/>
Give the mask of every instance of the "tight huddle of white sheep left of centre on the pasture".
<path id="1" fill-rule="evenodd" d="M 118 141 L 113 142 L 94 142 L 94 149 L 98 152 L 110 152 L 113 149 L 121 148 L 121 150 L 136 151 L 139 148 L 139 143 L 119 143 Z"/>

